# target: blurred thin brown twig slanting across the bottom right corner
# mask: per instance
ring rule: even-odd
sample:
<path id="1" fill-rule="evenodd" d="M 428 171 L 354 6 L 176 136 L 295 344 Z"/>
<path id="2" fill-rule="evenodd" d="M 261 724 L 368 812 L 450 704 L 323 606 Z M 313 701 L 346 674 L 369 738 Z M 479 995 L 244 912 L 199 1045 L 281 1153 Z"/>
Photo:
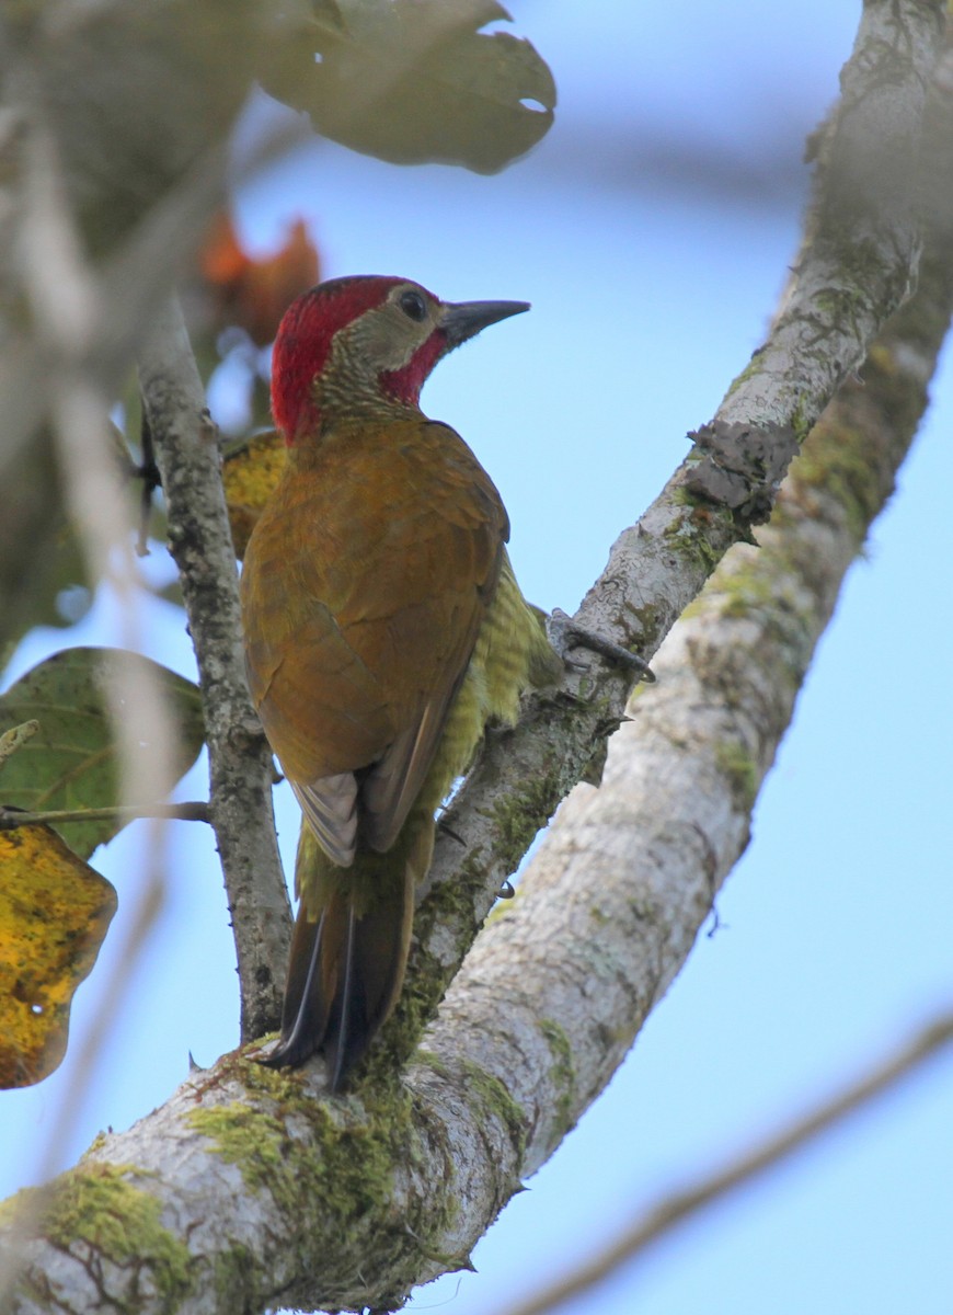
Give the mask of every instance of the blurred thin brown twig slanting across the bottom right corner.
<path id="1" fill-rule="evenodd" d="M 946 1014 L 912 1039 L 904 1040 L 886 1060 L 881 1060 L 862 1077 L 795 1119 L 781 1132 L 745 1151 L 731 1164 L 716 1169 L 693 1186 L 664 1197 L 592 1260 L 543 1289 L 530 1301 L 511 1306 L 506 1315 L 544 1315 L 589 1291 L 620 1265 L 641 1256 L 672 1228 L 707 1206 L 724 1201 L 732 1191 L 749 1186 L 761 1174 L 777 1168 L 861 1106 L 883 1095 L 950 1043 L 953 1043 L 953 1014 Z"/>

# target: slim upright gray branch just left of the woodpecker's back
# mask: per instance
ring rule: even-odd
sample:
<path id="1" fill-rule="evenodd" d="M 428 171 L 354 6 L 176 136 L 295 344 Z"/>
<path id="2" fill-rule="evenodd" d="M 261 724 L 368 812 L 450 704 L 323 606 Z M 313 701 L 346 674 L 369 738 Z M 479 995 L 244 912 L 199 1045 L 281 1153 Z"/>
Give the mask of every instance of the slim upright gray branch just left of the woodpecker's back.
<path id="1" fill-rule="evenodd" d="M 247 1040 L 280 1019 L 291 913 L 271 805 L 272 755 L 244 680 L 220 452 L 177 302 L 156 317 L 139 379 L 198 658 L 209 813 L 229 893 Z"/>

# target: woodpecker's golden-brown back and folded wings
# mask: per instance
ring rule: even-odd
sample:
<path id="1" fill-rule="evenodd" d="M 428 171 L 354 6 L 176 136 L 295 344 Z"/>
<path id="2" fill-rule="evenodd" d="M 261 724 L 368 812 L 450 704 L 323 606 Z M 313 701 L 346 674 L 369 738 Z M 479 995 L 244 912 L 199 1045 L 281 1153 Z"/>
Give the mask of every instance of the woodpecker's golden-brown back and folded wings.
<path id="1" fill-rule="evenodd" d="M 334 481 L 285 480 L 242 577 L 252 697 L 340 865 L 358 835 L 389 848 L 417 798 L 509 533 L 489 476 L 447 426 L 409 421 L 389 431 L 385 462 L 358 442 L 343 460 Z M 300 542 L 289 525 L 306 527 Z"/>

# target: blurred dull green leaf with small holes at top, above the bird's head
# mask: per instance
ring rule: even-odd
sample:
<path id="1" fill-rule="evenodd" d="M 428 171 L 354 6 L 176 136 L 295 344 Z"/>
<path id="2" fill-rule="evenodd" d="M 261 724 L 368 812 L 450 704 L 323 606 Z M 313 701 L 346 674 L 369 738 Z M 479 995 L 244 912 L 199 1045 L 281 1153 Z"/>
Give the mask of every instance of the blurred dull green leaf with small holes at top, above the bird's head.
<path id="1" fill-rule="evenodd" d="M 509 17 L 496 0 L 315 0 L 264 87 L 356 151 L 496 174 L 548 132 L 556 104 L 528 41 L 480 32 Z"/>

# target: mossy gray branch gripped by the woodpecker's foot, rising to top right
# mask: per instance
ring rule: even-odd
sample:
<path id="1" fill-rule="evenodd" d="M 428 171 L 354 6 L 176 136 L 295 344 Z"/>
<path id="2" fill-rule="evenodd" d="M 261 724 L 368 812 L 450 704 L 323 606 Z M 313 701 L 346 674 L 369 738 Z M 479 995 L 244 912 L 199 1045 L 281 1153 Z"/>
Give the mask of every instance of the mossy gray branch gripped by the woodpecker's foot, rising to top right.
<path id="1" fill-rule="evenodd" d="M 919 141 L 941 11 L 924 0 L 865 5 L 841 75 L 844 99 L 823 137 L 823 158 L 836 167 L 819 171 L 785 304 L 699 444 L 613 546 L 576 615 L 589 630 L 652 656 L 724 552 L 765 519 L 794 439 L 810 431 L 915 281 Z M 585 775 L 593 746 L 618 726 L 624 672 L 593 661 L 582 681 L 567 684 L 581 688 L 585 702 L 553 715 L 535 701 L 515 734 L 488 740 L 448 810 L 434 890 L 414 928 L 417 998 L 405 1005 L 432 1009 L 500 886 Z"/>

